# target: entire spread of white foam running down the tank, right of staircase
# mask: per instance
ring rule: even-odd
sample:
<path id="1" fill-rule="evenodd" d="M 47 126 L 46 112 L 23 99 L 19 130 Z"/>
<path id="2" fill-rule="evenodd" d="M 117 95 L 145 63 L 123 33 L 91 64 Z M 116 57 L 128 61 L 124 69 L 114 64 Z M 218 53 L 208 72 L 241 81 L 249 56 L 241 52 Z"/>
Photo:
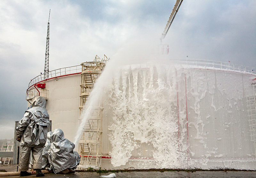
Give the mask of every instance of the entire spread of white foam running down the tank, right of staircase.
<path id="1" fill-rule="evenodd" d="M 230 144 L 233 146 L 228 138 L 233 136 L 234 131 L 240 134 L 241 122 L 235 122 L 233 118 L 235 110 L 232 109 L 232 105 L 236 106 L 237 113 L 240 113 L 239 107 L 246 108 L 239 100 L 243 99 L 244 88 L 246 88 L 241 81 L 249 84 L 248 77 L 244 80 L 241 74 L 229 76 L 225 72 L 172 64 L 148 65 L 146 68 L 141 65 L 113 66 L 106 66 L 104 75 L 100 76 L 94 86 L 95 94 L 92 93 L 90 97 L 93 98 L 94 104 L 105 102 L 111 111 L 110 115 L 113 116 L 108 118 L 108 129 L 112 146 L 109 154 L 114 167 L 130 164 L 131 161 L 140 162 L 137 159 L 131 160 L 136 156 L 143 158 L 139 159 L 143 160 L 143 163 L 140 162 L 138 165 L 145 168 L 168 168 L 170 165 L 193 167 L 199 163 L 207 167 L 209 162 L 214 162 L 212 159 L 218 162 L 219 160 L 216 159 L 231 156 L 226 153 L 227 149 L 223 148 L 222 142 L 227 143 L 227 148 Z M 187 95 L 184 92 L 185 75 Z M 179 111 L 177 110 L 177 91 Z M 218 92 L 224 97 L 216 98 L 216 96 L 219 97 Z M 188 123 L 186 100 L 189 110 Z M 202 105 L 207 103 L 205 100 L 208 101 L 208 108 Z M 246 109 L 242 111 L 246 112 Z M 223 116 L 220 115 L 221 112 Z M 218 125 L 214 119 L 219 115 L 232 122 L 226 121 L 228 124 L 225 124 L 225 121 L 219 120 Z M 244 116 L 243 113 L 242 116 Z M 237 120 L 239 119 L 238 117 Z M 217 127 L 214 127 L 214 123 L 217 123 Z M 187 124 L 191 143 L 187 142 Z M 233 127 L 236 127 L 237 131 Z M 213 129 L 210 130 L 210 134 L 209 128 Z M 215 131 L 216 128 L 218 131 Z M 247 141 L 247 137 L 243 138 Z M 242 141 L 238 139 L 237 146 L 242 147 Z M 140 150 L 142 144 L 147 144 L 151 148 Z M 241 149 L 234 152 L 239 156 L 252 155 L 251 148 L 244 149 L 243 147 L 242 152 L 239 151 Z M 200 159 L 198 159 L 199 154 Z M 149 160 L 153 163 L 147 163 Z"/>

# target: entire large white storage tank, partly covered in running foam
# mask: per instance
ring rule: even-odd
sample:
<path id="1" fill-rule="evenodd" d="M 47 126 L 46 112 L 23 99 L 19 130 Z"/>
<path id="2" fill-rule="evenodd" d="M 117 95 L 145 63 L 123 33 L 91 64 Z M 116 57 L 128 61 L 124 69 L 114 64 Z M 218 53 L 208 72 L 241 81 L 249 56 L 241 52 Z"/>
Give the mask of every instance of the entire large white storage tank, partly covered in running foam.
<path id="1" fill-rule="evenodd" d="M 47 90 L 52 130 L 62 129 L 74 142 L 80 123 L 81 67 L 72 68 L 76 70 L 66 76 L 44 81 L 41 95 Z M 97 97 L 104 108 L 97 167 L 256 168 L 255 69 L 165 61 L 111 72 L 115 74 Z"/>

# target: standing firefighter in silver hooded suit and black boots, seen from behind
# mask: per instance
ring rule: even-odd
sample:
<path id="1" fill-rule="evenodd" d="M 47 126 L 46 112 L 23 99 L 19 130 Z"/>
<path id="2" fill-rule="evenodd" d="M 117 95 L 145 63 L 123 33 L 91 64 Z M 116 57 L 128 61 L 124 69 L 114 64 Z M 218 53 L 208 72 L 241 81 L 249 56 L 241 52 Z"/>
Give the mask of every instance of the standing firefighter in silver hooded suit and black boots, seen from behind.
<path id="1" fill-rule="evenodd" d="M 20 142 L 20 176 L 31 175 L 27 172 L 30 152 L 32 152 L 33 169 L 36 170 L 36 177 L 44 176 L 41 171 L 42 152 L 47 138 L 48 126 L 50 126 L 49 114 L 45 107 L 46 100 L 41 96 L 36 96 L 32 100 L 31 108 L 25 112 L 16 128 L 15 138 Z"/>

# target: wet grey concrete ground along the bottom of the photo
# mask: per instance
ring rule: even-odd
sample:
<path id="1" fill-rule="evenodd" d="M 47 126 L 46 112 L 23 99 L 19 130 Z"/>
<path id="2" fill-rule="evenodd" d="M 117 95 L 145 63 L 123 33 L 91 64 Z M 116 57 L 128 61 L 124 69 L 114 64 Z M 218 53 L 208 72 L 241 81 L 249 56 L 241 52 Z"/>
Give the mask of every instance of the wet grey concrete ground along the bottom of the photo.
<path id="1" fill-rule="evenodd" d="M 0 170 L 6 170 L 7 172 L 16 172 L 17 165 L 0 166 Z M 45 178 L 100 178 L 101 175 L 109 175 L 109 173 L 95 173 L 95 172 L 75 172 L 71 174 L 45 174 Z M 195 172 L 118 172 L 115 173 L 116 178 L 251 178 L 256 177 L 256 171 L 195 171 Z M 5 176 L 18 178 L 20 176 Z M 36 175 L 30 175 L 26 177 L 36 177 Z M 24 178 L 26 178 L 24 177 Z"/>

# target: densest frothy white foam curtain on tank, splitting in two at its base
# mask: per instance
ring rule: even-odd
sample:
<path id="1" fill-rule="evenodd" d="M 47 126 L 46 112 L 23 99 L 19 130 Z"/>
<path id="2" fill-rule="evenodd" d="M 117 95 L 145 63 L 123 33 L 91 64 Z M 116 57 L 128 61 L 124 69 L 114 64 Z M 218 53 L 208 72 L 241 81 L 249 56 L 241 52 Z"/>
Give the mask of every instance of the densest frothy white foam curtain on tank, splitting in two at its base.
<path id="1" fill-rule="evenodd" d="M 173 95 L 176 94 L 176 85 L 167 82 L 167 78 L 175 78 L 172 76 L 175 73 L 170 73 L 168 68 L 151 66 L 144 72 L 140 72 L 140 68 L 130 68 L 129 72 L 122 69 L 123 81 L 127 81 L 123 85 L 123 92 L 116 83 L 112 86 L 115 90 L 110 95 L 116 96 L 115 100 L 110 101 L 114 115 L 113 123 L 109 126 L 113 166 L 125 165 L 132 151 L 138 148 L 138 143 L 148 142 L 154 147 L 151 157 L 159 167 L 177 161 L 178 125 L 174 114 L 176 108 L 172 109 L 177 100 Z"/>

